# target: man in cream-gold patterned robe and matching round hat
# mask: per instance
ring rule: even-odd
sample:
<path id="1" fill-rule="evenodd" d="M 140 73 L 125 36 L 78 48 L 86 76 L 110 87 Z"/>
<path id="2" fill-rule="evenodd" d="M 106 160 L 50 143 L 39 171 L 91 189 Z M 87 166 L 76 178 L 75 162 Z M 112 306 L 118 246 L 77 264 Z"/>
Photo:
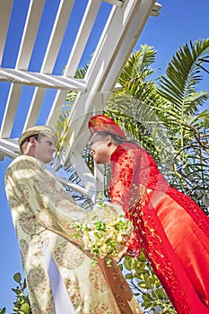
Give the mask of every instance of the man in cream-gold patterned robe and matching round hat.
<path id="1" fill-rule="evenodd" d="M 108 267 L 98 258 L 93 267 L 82 240 L 74 238 L 71 222 L 83 221 L 86 212 L 45 168 L 56 145 L 53 129 L 30 127 L 19 139 L 22 155 L 5 173 L 32 313 L 142 313 L 117 264 Z"/>

